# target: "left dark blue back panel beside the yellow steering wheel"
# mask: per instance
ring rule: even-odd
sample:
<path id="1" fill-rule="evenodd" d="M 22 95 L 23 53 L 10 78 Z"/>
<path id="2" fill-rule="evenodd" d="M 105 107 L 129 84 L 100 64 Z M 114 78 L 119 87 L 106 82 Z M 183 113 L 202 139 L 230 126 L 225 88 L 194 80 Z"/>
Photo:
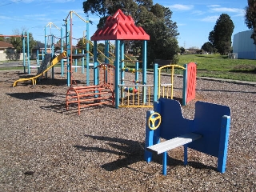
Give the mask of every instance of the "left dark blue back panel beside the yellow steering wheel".
<path id="1" fill-rule="evenodd" d="M 193 132 L 193 120 L 183 118 L 182 108 L 178 101 L 169 98 L 160 98 L 162 123 L 161 138 L 176 138 L 181 134 Z"/>

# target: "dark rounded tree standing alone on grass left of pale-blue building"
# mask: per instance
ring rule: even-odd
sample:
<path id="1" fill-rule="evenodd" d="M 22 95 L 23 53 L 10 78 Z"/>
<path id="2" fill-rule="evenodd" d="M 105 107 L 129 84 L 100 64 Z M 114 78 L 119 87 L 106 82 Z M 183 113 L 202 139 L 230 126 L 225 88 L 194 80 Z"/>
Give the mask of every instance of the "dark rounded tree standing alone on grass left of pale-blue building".
<path id="1" fill-rule="evenodd" d="M 209 41 L 219 54 L 228 54 L 231 50 L 231 36 L 234 31 L 234 23 L 228 14 L 221 14 L 217 19 L 214 30 L 210 31 Z"/>

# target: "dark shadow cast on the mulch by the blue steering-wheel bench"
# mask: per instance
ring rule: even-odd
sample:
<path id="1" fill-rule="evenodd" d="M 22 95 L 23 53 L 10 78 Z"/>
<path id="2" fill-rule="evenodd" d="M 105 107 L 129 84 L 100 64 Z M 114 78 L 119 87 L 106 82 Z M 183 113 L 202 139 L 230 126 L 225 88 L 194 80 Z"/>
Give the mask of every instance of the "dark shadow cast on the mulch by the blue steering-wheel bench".
<path id="1" fill-rule="evenodd" d="M 86 152 L 105 152 L 110 154 L 117 154 L 119 158 L 114 162 L 108 162 L 102 165 L 102 168 L 108 171 L 118 170 L 120 168 L 126 167 L 130 169 L 130 165 L 145 161 L 144 160 L 144 142 L 137 142 L 128 139 L 122 138 L 110 138 L 105 136 L 94 136 L 85 134 L 85 137 L 102 140 L 108 142 L 108 145 L 114 148 L 115 150 L 104 149 L 101 147 L 91 147 L 91 146 L 74 146 L 77 150 L 83 150 Z M 104 157 L 102 157 L 104 158 Z M 162 165 L 162 155 L 153 154 L 152 162 L 157 162 Z M 169 163 L 168 166 L 183 166 L 183 161 L 168 157 L 167 160 Z M 150 164 L 149 164 L 150 166 Z M 189 162 L 189 166 L 192 166 L 196 169 L 208 169 L 208 170 L 217 170 L 213 166 L 203 165 L 201 162 Z"/>

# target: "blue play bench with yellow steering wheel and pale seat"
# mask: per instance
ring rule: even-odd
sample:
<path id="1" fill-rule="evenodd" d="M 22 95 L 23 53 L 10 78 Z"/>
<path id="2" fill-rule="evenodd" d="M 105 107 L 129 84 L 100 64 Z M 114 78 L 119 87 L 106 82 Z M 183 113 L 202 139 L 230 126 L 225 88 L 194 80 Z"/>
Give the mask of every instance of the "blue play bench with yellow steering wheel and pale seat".
<path id="1" fill-rule="evenodd" d="M 158 114 L 154 114 L 154 113 Z M 167 151 L 184 146 L 184 165 L 187 148 L 218 158 L 218 171 L 226 170 L 230 130 L 230 108 L 208 102 L 196 102 L 194 120 L 183 118 L 178 101 L 159 98 L 154 110 L 146 113 L 145 160 L 152 152 L 163 154 L 162 174 L 166 175 Z M 166 139 L 160 142 L 160 138 Z"/>

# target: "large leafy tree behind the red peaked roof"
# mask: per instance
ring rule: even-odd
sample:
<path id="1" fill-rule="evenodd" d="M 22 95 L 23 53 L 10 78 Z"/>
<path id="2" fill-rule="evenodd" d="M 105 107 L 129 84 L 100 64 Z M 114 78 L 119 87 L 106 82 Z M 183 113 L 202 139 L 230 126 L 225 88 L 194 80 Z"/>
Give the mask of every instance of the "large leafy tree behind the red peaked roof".
<path id="1" fill-rule="evenodd" d="M 150 41 L 147 46 L 147 60 L 154 62 L 156 58 L 174 59 L 178 53 L 177 23 L 171 20 L 172 12 L 169 8 L 159 4 L 153 5 L 152 0 L 87 0 L 83 2 L 86 14 L 97 14 L 100 17 L 98 27 L 105 24 L 106 18 L 113 15 L 118 9 L 129 14 L 136 26 L 142 26 Z M 138 41 L 126 42 L 129 49 L 142 50 L 142 43 Z"/>

